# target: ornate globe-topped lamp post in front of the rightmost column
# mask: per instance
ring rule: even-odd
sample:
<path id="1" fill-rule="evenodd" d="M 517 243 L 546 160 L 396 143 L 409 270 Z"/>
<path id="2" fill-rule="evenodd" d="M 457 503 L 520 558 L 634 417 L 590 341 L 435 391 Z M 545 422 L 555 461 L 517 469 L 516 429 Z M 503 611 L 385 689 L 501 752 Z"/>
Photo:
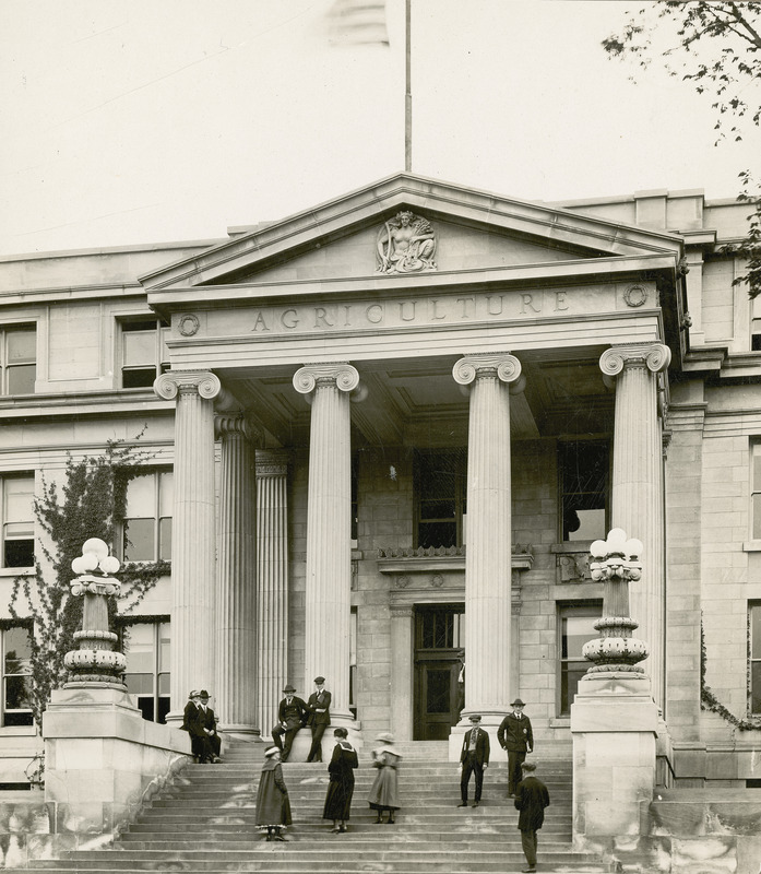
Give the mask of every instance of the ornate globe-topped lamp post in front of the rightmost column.
<path id="1" fill-rule="evenodd" d="M 594 627 L 601 637 L 584 643 L 582 653 L 594 662 L 582 680 L 599 674 L 644 674 L 638 662 L 647 658 L 647 645 L 632 636 L 639 627 L 629 614 L 629 582 L 642 577 L 642 542 L 628 539 L 620 528 L 608 532 L 607 540 L 596 540 L 590 546 L 592 579 L 604 582 L 603 613 Z"/>

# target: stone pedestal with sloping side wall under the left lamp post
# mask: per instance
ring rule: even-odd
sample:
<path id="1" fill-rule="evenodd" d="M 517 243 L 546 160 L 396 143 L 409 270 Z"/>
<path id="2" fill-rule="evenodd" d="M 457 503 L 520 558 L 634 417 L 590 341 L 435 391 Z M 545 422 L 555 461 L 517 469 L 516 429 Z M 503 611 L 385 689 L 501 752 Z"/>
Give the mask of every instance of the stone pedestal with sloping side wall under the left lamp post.
<path id="1" fill-rule="evenodd" d="M 126 826 L 180 767 L 190 739 L 107 684 L 56 689 L 45 711 L 45 800 L 67 847 Z"/>

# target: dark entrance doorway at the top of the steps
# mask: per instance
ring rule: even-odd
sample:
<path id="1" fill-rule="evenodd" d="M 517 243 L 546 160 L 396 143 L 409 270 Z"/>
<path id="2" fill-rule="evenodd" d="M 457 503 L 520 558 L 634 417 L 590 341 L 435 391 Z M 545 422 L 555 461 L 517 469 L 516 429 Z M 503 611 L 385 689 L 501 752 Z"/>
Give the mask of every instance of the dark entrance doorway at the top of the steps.
<path id="1" fill-rule="evenodd" d="M 464 611 L 462 604 L 415 609 L 415 741 L 445 741 L 460 719 Z"/>

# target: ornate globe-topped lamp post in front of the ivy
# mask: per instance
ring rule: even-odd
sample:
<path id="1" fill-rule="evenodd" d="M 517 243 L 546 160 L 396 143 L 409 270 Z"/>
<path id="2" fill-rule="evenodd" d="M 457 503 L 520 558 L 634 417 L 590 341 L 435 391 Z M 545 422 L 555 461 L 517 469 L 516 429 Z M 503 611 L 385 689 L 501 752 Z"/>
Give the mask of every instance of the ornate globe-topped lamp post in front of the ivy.
<path id="1" fill-rule="evenodd" d="M 74 558 L 71 569 L 78 576 L 71 581 L 73 597 L 84 598 L 82 630 L 74 633 L 79 649 L 67 652 L 63 664 L 69 669 L 64 688 L 103 687 L 127 690 L 122 674 L 127 659 L 114 648 L 119 638 L 108 628 L 108 597 L 118 594 L 121 583 L 112 574 L 121 567 L 119 559 L 108 554 L 108 546 L 98 538 L 90 538 L 82 555 Z"/>

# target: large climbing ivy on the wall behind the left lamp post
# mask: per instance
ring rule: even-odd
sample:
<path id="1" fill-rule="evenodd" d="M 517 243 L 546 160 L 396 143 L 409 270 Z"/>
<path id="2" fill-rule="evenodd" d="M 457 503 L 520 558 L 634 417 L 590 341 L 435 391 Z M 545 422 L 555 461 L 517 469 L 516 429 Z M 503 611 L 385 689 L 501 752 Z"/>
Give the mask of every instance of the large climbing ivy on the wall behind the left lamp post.
<path id="1" fill-rule="evenodd" d="M 9 605 L 14 619 L 31 617 L 33 622 L 31 707 L 40 728 L 50 692 L 67 680 L 63 657 L 76 649 L 73 636 L 82 627 L 83 599 L 70 597 L 71 563 L 88 538 L 114 544 L 127 511 L 128 483 L 145 473 L 147 459 L 145 452 L 114 440 L 102 456 L 79 461 L 69 457 L 60 485 L 43 480 L 34 512 L 49 545 L 37 540 L 35 574 L 14 580 Z M 123 565 L 119 580 L 129 602 L 122 612 L 136 606 L 156 580 L 169 574 L 169 567 L 167 562 Z M 112 618 L 119 605 L 116 599 L 110 602 Z"/>

